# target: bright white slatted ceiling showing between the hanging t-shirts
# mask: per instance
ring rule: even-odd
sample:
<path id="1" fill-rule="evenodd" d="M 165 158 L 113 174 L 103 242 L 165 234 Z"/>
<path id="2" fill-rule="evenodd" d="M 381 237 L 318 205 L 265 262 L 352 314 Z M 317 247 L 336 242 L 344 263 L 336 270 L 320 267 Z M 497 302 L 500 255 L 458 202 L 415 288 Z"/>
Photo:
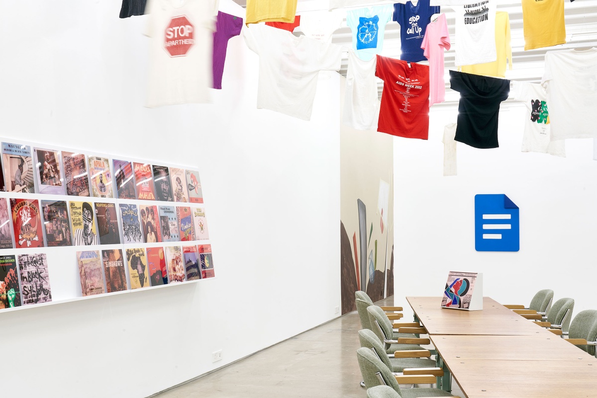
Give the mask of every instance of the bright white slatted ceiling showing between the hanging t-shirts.
<path id="1" fill-rule="evenodd" d="M 236 3 L 245 6 L 246 0 L 234 0 Z M 576 0 L 570 2 L 564 1 L 564 13 L 566 23 L 566 40 L 564 45 L 554 47 L 534 49 L 524 51 L 524 36 L 522 34 L 522 6 L 520 0 L 498 0 L 498 11 L 506 11 L 510 17 L 510 36 L 512 38 L 512 60 L 513 69 L 506 71 L 506 78 L 511 80 L 524 80 L 527 82 L 538 83 L 543 75 L 543 60 L 545 53 L 553 49 L 581 48 L 597 46 L 597 0 Z M 367 4 L 380 4 L 380 1 L 364 0 L 361 7 L 367 7 Z M 384 1 L 391 4 L 391 1 Z M 351 7 L 339 10 L 346 13 L 346 10 L 360 7 Z M 297 14 L 310 13 L 313 11 L 324 11 L 328 9 L 328 0 L 298 0 Z M 441 12 L 446 14 L 448 29 L 450 30 L 451 43 L 454 48 L 454 11 L 450 7 L 442 7 Z M 334 32 L 332 42 L 338 45 L 350 48 L 352 46 L 352 32 L 346 26 L 344 20 L 343 27 Z M 390 22 L 386 25 L 386 33 L 383 41 L 384 57 L 400 57 L 400 25 L 396 22 Z M 458 101 L 458 93 L 449 90 L 448 70 L 456 69 L 454 66 L 454 49 L 445 52 L 445 70 L 447 82 L 446 102 L 438 104 L 440 106 L 455 106 Z M 343 53 L 342 68 L 340 74 L 346 76 L 347 51 Z M 381 95 L 383 82 L 378 85 Z M 433 105 L 434 108 L 438 105 Z"/>

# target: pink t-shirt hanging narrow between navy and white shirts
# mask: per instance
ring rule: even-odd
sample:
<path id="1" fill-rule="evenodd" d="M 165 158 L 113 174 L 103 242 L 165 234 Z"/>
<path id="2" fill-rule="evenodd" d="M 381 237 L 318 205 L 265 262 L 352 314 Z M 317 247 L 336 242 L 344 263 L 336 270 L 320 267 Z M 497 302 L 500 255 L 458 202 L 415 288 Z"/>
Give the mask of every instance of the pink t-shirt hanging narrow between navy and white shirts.
<path id="1" fill-rule="evenodd" d="M 444 49 L 450 49 L 450 33 L 446 15 L 441 14 L 427 25 L 421 43 L 423 55 L 429 60 L 429 106 L 445 101 Z"/>

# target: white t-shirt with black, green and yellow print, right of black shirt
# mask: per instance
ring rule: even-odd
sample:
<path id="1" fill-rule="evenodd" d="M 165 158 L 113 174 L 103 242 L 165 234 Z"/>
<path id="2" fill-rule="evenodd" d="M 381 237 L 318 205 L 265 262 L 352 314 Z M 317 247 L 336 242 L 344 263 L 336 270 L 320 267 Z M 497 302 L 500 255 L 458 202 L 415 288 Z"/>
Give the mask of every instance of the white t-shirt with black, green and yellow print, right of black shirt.
<path id="1" fill-rule="evenodd" d="M 528 82 L 512 80 L 513 98 L 527 108 L 527 116 L 522 136 L 522 152 L 549 153 L 566 156 L 565 140 L 551 141 L 550 108 L 543 87 Z"/>

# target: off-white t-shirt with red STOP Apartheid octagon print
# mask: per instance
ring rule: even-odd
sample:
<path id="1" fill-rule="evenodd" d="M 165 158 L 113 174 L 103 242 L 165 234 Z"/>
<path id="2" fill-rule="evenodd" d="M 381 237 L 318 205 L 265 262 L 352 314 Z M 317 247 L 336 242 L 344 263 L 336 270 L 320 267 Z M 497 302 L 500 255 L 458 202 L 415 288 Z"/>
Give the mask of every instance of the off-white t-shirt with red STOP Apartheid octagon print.
<path id="1" fill-rule="evenodd" d="M 210 102 L 218 0 L 150 0 L 149 108 Z"/>

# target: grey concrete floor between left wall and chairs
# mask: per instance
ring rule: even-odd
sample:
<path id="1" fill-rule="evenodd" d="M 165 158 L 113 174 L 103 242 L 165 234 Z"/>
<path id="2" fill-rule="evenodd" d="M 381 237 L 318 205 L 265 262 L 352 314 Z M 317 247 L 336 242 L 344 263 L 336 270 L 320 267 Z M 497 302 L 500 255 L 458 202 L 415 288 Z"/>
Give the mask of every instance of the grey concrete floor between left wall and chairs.
<path id="1" fill-rule="evenodd" d="M 393 305 L 393 297 L 378 304 Z M 356 362 L 359 329 L 355 311 L 154 397 L 365 398 Z"/>

